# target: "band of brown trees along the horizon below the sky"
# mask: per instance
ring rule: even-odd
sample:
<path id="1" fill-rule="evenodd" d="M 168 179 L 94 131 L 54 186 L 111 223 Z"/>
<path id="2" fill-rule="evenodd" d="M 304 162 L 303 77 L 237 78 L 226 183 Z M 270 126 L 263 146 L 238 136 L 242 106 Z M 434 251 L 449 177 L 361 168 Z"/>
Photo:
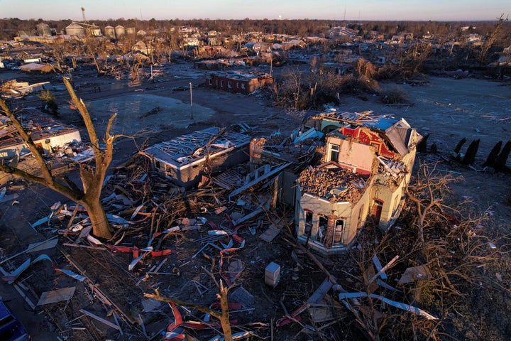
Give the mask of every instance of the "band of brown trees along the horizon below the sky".
<path id="1" fill-rule="evenodd" d="M 498 17 L 495 18 L 498 20 Z M 63 31 L 71 20 L 45 21 L 43 18 L 21 20 L 19 18 L 0 19 L 0 39 L 9 40 L 18 34 L 18 31 L 35 31 L 38 23 L 47 23 L 50 28 L 56 31 Z M 461 38 L 462 33 L 477 33 L 480 36 L 488 36 L 495 26 L 495 21 L 335 21 L 335 20 L 270 20 L 270 19 L 192 19 L 181 20 L 179 18 L 169 20 L 138 20 L 136 18 L 117 18 L 103 21 L 89 20 L 100 28 L 105 26 L 122 25 L 125 27 L 134 27 L 137 30 L 151 31 L 161 30 L 170 31 L 171 28 L 181 26 L 197 27 L 201 31 L 219 31 L 226 34 L 262 32 L 262 33 L 280 33 L 292 36 L 325 36 L 330 28 L 344 26 L 351 28 L 359 36 L 366 36 L 370 31 L 383 33 L 386 38 L 402 32 L 412 32 L 414 36 L 435 36 L 436 38 Z M 511 24 L 506 22 L 506 27 L 501 30 L 499 37 L 496 37 L 495 43 L 509 43 L 511 38 Z M 468 28 L 462 30 L 462 28 Z M 506 47 L 506 46 L 505 46 Z"/>

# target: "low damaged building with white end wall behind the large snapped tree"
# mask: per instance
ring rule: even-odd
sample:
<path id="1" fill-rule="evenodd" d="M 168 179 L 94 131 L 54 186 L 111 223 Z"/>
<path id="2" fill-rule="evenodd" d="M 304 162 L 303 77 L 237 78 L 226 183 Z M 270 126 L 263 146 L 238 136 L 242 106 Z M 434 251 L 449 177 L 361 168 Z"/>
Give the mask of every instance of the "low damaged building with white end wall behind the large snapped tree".
<path id="1" fill-rule="evenodd" d="M 37 109 L 23 109 L 16 116 L 43 154 L 52 154 L 66 144 L 82 141 L 75 126 L 61 124 Z M 16 153 L 24 155 L 30 151 L 11 120 L 0 115 L 0 158 L 13 158 Z"/>

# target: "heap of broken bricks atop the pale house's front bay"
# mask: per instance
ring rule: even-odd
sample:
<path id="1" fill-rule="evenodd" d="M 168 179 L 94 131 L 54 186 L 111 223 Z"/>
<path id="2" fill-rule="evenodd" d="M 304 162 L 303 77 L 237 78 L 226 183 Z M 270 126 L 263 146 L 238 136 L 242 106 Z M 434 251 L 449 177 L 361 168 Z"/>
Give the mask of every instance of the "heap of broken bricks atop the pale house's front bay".
<path id="1" fill-rule="evenodd" d="M 368 176 L 344 168 L 308 167 L 300 173 L 298 183 L 304 193 L 324 197 L 330 202 L 356 202 L 368 185 Z"/>

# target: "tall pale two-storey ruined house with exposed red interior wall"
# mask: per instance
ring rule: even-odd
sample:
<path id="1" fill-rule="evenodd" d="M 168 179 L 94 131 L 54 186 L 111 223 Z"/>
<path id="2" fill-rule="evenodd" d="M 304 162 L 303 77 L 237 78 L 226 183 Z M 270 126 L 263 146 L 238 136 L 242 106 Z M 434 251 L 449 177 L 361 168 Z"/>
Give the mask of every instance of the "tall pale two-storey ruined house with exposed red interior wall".
<path id="1" fill-rule="evenodd" d="M 329 131 L 322 164 L 300 173 L 295 224 L 300 242 L 323 254 L 351 247 L 367 222 L 388 229 L 399 216 L 422 139 L 404 119 L 326 112 L 309 121 Z"/>

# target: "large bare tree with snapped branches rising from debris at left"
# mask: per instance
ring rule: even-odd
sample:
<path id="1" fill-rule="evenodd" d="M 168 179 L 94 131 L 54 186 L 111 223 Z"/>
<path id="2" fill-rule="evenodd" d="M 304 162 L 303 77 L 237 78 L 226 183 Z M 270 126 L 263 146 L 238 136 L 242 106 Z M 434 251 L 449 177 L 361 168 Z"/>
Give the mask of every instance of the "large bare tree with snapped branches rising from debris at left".
<path id="1" fill-rule="evenodd" d="M 85 210 L 87 210 L 87 214 L 89 215 L 89 219 L 92 223 L 92 233 L 96 237 L 109 239 L 112 235 L 112 229 L 106 219 L 103 206 L 101 205 L 101 188 L 106 176 L 106 171 L 113 158 L 114 141 L 120 136 L 110 134 L 116 114 L 112 115 L 109 119 L 104 136 L 105 146 L 104 148 L 101 148 L 87 107 L 85 107 L 84 102 L 77 97 L 75 90 L 73 90 L 70 80 L 67 77 L 64 77 L 64 84 L 67 91 L 70 93 L 72 104 L 75 105 L 79 113 L 82 115 L 92 150 L 94 151 L 94 167 L 86 167 L 82 165 L 79 167 L 79 178 L 82 181 L 81 188 L 76 183 L 72 182 L 72 180 L 70 180 L 67 176 L 52 173 L 45 159 L 31 139 L 30 134 L 23 129 L 21 122 L 16 118 L 16 115 L 11 112 L 11 109 L 9 109 L 6 102 L 4 102 L 1 98 L 1 112 L 11 119 L 13 126 L 15 126 L 18 130 L 19 136 L 32 152 L 40 174 L 35 175 L 33 173 L 28 173 L 27 171 L 13 167 L 13 165 L 3 163 L 0 163 L 0 171 L 18 175 L 33 183 L 45 185 L 47 188 L 55 190 L 68 199 L 76 202 L 77 205 L 82 205 Z"/>

